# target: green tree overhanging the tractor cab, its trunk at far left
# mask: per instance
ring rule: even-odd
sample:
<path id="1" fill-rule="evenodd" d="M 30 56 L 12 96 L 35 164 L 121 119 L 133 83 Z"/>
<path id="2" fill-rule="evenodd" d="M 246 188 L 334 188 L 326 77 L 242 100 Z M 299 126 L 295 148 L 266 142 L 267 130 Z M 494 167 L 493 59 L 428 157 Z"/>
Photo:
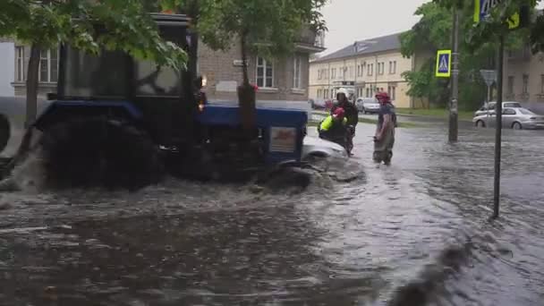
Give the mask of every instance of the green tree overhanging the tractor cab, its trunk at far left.
<path id="1" fill-rule="evenodd" d="M 172 4 L 163 5 L 167 8 Z M 40 50 L 56 47 L 59 42 L 92 54 L 98 54 L 102 48 L 122 50 L 177 69 L 187 63 L 182 48 L 159 37 L 157 25 L 140 0 L 4 0 L 0 3 L 0 35 L 31 46 L 27 124 L 36 118 Z"/>

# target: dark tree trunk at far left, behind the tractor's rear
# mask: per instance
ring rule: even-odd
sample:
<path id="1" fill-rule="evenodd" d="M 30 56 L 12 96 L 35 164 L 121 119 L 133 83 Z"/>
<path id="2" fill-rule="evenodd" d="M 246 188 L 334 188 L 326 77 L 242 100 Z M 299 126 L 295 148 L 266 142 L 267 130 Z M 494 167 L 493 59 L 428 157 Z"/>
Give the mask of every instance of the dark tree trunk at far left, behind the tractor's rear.
<path id="1" fill-rule="evenodd" d="M 38 70 L 39 70 L 39 47 L 32 44 L 30 47 L 29 70 L 27 72 L 27 115 L 25 128 L 36 120 L 38 114 Z"/>

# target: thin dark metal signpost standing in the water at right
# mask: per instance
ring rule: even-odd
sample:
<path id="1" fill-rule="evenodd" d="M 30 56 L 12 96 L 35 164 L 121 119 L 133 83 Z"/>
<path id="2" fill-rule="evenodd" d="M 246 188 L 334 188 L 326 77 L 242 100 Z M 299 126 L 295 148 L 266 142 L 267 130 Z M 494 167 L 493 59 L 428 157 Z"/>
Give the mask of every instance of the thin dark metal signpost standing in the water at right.
<path id="1" fill-rule="evenodd" d="M 501 33 L 498 42 L 498 63 L 497 63 L 497 104 L 495 105 L 495 180 L 493 188 L 493 218 L 498 217 L 500 203 L 500 158 L 503 128 L 503 65 L 505 56 L 505 34 Z"/>

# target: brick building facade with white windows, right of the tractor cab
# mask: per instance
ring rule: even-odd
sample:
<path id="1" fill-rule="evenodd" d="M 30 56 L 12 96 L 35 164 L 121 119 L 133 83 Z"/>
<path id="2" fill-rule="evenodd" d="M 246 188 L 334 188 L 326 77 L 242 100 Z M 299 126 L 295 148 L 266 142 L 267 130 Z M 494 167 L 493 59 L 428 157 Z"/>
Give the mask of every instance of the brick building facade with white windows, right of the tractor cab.
<path id="1" fill-rule="evenodd" d="M 258 100 L 308 101 L 310 55 L 324 50 L 322 36 L 302 35 L 292 55 L 267 59 L 249 55 L 250 82 L 259 87 Z M 242 52 L 234 43 L 227 51 L 199 46 L 199 72 L 206 76 L 210 100 L 236 100 L 242 84 Z"/>

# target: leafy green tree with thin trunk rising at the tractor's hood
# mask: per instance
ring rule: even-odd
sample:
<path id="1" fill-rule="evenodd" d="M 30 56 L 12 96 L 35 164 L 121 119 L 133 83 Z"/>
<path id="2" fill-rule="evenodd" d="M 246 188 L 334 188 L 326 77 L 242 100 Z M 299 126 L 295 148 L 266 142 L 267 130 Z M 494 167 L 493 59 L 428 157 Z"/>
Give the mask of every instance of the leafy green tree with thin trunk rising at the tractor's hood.
<path id="1" fill-rule="evenodd" d="M 192 0 L 194 1 L 194 0 Z M 248 76 L 250 52 L 266 57 L 281 57 L 293 51 L 294 42 L 305 26 L 325 30 L 319 9 L 327 0 L 203 0 L 182 7 L 197 15 L 195 28 L 202 41 L 212 49 L 225 50 L 238 39 L 242 50 L 242 86 L 239 103 L 243 125 L 253 126 L 255 92 Z M 188 9 L 190 8 L 190 9 Z"/>

